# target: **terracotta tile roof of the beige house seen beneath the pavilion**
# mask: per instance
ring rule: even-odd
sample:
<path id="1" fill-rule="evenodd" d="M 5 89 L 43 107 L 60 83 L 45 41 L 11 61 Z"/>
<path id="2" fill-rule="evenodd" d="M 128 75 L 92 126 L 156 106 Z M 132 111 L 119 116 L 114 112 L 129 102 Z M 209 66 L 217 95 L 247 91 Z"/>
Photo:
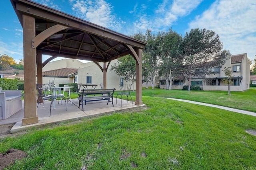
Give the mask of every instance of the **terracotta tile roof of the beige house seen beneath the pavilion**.
<path id="1" fill-rule="evenodd" d="M 77 72 L 77 68 L 60 68 L 56 70 L 44 71 L 43 76 L 53 76 L 53 77 L 68 77 L 68 74 Z"/>

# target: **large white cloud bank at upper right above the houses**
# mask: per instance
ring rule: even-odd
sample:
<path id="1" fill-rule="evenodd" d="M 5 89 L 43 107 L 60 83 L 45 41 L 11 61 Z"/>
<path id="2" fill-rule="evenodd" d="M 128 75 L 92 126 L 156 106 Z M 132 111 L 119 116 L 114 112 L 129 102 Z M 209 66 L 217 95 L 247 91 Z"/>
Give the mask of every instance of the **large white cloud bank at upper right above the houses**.
<path id="1" fill-rule="evenodd" d="M 215 31 L 224 49 L 232 55 L 247 53 L 253 60 L 256 54 L 255 0 L 219 0 L 202 15 L 189 23 L 190 29 L 199 27 Z"/>

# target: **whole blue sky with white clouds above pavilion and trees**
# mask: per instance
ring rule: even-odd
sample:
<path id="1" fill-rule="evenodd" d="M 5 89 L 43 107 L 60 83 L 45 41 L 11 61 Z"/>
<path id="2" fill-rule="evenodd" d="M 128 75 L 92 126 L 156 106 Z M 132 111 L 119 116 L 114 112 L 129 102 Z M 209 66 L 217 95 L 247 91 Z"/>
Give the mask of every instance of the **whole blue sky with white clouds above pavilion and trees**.
<path id="1" fill-rule="evenodd" d="M 256 0 L 33 0 L 125 35 L 172 28 L 215 31 L 232 55 L 256 55 Z M 0 6 L 0 54 L 23 59 L 22 27 L 9 0 Z M 48 57 L 44 56 L 43 60 Z M 60 59 L 60 58 L 57 58 Z"/>

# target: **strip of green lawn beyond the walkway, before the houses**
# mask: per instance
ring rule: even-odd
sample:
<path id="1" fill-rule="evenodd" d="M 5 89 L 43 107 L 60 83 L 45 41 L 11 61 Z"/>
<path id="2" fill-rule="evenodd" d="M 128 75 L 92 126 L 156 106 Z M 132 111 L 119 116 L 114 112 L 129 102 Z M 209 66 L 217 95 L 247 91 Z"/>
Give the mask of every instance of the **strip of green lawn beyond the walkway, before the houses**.
<path id="1" fill-rule="evenodd" d="M 135 92 L 133 93 L 135 96 Z M 244 92 L 144 89 L 142 96 L 177 98 L 256 112 L 256 90 Z M 135 99 L 135 98 L 134 98 Z"/>

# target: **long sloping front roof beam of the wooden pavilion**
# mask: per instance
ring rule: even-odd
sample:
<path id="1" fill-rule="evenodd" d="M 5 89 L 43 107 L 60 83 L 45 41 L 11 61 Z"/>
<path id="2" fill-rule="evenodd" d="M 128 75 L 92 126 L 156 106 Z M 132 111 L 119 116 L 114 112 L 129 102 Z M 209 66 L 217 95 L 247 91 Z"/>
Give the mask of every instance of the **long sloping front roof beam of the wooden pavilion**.
<path id="1" fill-rule="evenodd" d="M 112 39 L 114 41 L 118 41 L 120 43 L 125 43 L 128 45 L 132 45 L 134 47 L 138 47 L 140 49 L 144 49 L 146 43 L 132 37 L 128 37 L 126 35 L 120 34 L 116 31 L 112 31 L 110 29 L 101 27 L 99 25 L 81 20 L 79 18 L 75 18 L 68 14 L 55 11 L 51 8 L 46 8 L 37 5 L 35 8 L 33 2 L 29 2 L 30 5 L 16 3 L 16 10 L 26 13 L 28 15 L 32 15 L 38 18 L 42 18 L 44 20 L 52 21 L 53 23 L 58 23 L 61 25 L 65 25 L 67 27 L 72 27 L 74 29 L 78 29 L 87 33 L 92 33 L 98 35 L 100 37 L 105 37 L 108 39 Z M 29 10 L 28 10 L 29 6 Z"/>

